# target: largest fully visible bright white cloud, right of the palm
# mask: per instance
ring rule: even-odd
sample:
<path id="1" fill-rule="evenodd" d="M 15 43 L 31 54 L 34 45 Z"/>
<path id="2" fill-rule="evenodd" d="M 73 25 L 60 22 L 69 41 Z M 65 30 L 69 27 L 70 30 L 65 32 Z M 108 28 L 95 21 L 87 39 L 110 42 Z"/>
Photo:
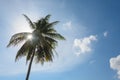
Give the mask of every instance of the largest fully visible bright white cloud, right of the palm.
<path id="1" fill-rule="evenodd" d="M 85 37 L 82 39 L 75 39 L 73 47 L 77 50 L 76 54 L 80 55 L 91 52 L 91 42 L 96 40 L 97 38 L 95 35 L 90 35 L 89 37 Z"/>

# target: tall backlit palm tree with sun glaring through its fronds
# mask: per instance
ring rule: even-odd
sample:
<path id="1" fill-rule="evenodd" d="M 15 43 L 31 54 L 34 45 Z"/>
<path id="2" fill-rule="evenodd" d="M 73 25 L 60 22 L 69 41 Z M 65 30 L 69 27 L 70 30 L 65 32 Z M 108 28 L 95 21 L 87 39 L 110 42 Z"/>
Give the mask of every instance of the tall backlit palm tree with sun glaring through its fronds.
<path id="1" fill-rule="evenodd" d="M 7 47 L 18 45 L 24 41 L 24 44 L 16 54 L 15 61 L 23 56 L 26 57 L 26 62 L 29 61 L 26 76 L 26 80 L 28 80 L 33 59 L 35 59 L 36 63 L 41 64 L 53 61 L 53 53 L 56 52 L 55 47 L 58 43 L 57 40 L 65 40 L 65 38 L 53 27 L 58 21 L 49 22 L 50 15 L 47 15 L 36 22 L 32 22 L 30 18 L 24 14 L 23 16 L 26 18 L 33 31 L 31 33 L 22 32 L 13 35 Z"/>

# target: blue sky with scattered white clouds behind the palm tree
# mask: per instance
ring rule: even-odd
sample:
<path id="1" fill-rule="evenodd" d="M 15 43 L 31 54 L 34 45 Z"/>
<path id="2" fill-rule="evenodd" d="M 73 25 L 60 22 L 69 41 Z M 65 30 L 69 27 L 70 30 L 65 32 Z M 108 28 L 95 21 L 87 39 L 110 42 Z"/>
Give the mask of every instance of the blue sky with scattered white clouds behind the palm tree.
<path id="1" fill-rule="evenodd" d="M 33 64 L 30 80 L 119 80 L 119 0 L 0 0 L 0 80 L 24 80 L 25 58 L 15 62 L 21 45 L 6 48 L 10 37 L 30 32 L 26 14 L 34 22 L 51 14 L 66 37 L 52 63 Z"/>

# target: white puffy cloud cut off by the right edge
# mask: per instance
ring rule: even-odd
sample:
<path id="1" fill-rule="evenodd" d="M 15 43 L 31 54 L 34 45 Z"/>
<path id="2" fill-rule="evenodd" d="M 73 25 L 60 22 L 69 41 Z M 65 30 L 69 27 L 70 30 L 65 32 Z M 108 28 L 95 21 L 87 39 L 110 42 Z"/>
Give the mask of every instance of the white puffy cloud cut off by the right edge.
<path id="1" fill-rule="evenodd" d="M 117 71 L 118 79 L 120 79 L 120 55 L 110 59 L 110 68 Z"/>

